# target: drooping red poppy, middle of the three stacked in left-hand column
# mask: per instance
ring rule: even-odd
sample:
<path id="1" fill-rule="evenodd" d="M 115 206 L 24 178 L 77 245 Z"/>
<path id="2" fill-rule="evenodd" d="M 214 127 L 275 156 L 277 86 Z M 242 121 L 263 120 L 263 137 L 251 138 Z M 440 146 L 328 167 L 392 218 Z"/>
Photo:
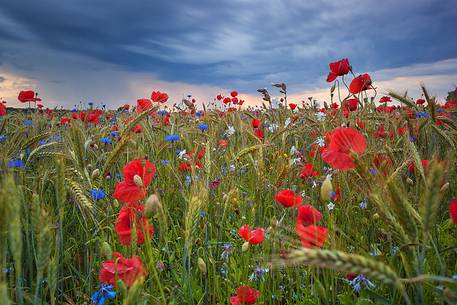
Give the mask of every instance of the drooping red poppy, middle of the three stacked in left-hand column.
<path id="1" fill-rule="evenodd" d="M 148 232 L 150 236 L 154 234 L 153 227 L 144 217 L 144 207 L 142 204 L 126 204 L 119 211 L 114 230 L 117 233 L 121 245 L 130 245 L 132 242 L 133 223 L 136 228 L 137 244 L 144 243 L 144 233 Z"/>

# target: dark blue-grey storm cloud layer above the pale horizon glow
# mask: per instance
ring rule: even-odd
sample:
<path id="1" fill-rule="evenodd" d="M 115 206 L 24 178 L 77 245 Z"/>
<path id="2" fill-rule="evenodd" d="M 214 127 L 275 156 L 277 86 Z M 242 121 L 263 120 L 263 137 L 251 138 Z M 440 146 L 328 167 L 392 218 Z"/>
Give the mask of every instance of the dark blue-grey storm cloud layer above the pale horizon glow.
<path id="1" fill-rule="evenodd" d="M 341 57 L 362 72 L 457 54 L 450 0 L 3 0 L 0 25 L 0 42 L 20 43 L 32 58 L 38 45 L 162 80 L 251 91 L 272 81 L 302 89 Z"/>

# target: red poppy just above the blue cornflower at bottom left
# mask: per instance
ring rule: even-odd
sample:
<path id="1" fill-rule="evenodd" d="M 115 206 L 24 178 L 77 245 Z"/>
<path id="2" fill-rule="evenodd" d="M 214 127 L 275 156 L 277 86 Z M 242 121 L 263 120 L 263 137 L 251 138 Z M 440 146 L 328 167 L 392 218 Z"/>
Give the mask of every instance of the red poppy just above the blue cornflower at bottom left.
<path id="1" fill-rule="evenodd" d="M 100 282 L 114 286 L 116 286 L 116 279 L 119 279 L 130 287 L 138 278 L 145 277 L 147 274 L 138 256 L 125 258 L 122 254 L 114 252 L 113 259 L 102 263 L 98 278 Z"/>

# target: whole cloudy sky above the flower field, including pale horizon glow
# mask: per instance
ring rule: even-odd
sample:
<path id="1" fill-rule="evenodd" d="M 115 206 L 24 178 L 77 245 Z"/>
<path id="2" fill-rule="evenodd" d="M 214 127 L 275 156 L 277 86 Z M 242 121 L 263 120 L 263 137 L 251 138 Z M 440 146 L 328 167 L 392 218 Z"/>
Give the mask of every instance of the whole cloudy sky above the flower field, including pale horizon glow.
<path id="1" fill-rule="evenodd" d="M 1 0 L 0 97 L 49 107 L 116 108 L 151 91 L 170 103 L 288 85 L 289 100 L 327 99 L 328 64 L 349 58 L 382 94 L 438 98 L 457 85 L 454 0 Z M 271 89 L 275 93 L 274 89 Z"/>

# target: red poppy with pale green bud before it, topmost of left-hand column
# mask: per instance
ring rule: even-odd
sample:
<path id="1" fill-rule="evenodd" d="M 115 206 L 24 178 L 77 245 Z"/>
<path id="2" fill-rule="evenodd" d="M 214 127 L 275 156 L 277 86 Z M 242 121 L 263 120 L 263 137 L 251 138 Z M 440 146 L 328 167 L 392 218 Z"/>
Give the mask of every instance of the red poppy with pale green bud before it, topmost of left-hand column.
<path id="1" fill-rule="evenodd" d="M 143 165 L 140 160 L 135 159 L 124 166 L 122 173 L 124 181 L 116 182 L 113 197 L 121 202 L 142 200 L 154 177 L 155 166 L 148 160 L 144 161 Z"/>

